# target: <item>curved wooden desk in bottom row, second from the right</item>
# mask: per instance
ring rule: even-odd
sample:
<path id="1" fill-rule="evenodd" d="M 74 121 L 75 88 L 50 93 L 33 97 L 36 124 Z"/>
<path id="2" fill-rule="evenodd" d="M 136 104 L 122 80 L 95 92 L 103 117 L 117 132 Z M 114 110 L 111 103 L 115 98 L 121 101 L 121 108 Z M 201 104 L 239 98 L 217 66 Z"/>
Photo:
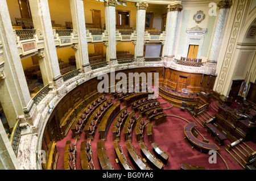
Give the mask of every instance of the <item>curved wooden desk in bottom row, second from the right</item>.
<path id="1" fill-rule="evenodd" d="M 144 142 L 139 143 L 139 147 L 141 148 L 142 154 L 146 157 L 148 163 L 154 167 L 155 169 L 163 170 L 164 164 L 159 159 L 157 159 L 150 151 L 147 149 L 147 146 Z"/>

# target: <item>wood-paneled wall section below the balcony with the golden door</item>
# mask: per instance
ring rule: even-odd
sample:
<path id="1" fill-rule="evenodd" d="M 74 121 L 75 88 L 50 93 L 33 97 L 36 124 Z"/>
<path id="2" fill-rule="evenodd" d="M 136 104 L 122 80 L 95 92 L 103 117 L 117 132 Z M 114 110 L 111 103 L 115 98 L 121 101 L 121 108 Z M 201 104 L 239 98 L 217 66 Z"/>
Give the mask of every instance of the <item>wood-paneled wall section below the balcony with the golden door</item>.
<path id="1" fill-rule="evenodd" d="M 213 89 L 216 76 L 200 73 L 186 73 L 170 68 L 164 68 L 163 86 L 170 87 L 176 91 L 183 88 L 197 93 L 200 91 L 210 92 Z"/>

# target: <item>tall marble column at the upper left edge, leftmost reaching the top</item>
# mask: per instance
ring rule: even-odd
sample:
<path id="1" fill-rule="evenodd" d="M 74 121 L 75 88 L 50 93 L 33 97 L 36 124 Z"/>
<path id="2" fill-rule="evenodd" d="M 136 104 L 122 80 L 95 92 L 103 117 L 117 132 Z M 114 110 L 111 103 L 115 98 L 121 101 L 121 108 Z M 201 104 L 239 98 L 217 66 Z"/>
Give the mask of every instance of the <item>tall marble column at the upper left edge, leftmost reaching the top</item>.
<path id="1" fill-rule="evenodd" d="M 13 127 L 16 117 L 30 110 L 32 99 L 20 61 L 6 1 L 1 1 L 0 24 L 3 57 L 0 60 L 0 100 L 9 126 Z"/>

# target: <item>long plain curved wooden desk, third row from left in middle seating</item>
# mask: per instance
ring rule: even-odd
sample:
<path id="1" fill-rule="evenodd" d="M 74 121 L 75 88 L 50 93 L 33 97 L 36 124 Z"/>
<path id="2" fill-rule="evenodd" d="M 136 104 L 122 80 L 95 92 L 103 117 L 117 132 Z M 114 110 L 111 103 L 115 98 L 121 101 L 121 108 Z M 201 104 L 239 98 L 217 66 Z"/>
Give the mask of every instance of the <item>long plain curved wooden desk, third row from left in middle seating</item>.
<path id="1" fill-rule="evenodd" d="M 98 127 L 98 132 L 100 133 L 101 140 L 106 140 L 106 133 L 108 132 L 109 125 L 112 123 L 115 116 L 120 111 L 120 103 L 114 104 L 104 115 L 101 120 L 101 123 Z"/>

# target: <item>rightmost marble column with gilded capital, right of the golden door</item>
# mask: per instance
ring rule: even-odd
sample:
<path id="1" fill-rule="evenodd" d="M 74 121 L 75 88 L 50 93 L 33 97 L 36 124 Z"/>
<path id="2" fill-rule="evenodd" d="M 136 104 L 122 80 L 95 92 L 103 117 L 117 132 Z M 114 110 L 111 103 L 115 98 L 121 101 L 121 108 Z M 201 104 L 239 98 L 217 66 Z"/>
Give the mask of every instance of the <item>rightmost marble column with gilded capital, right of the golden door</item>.
<path id="1" fill-rule="evenodd" d="M 220 8 L 218 19 L 214 30 L 212 45 L 207 62 L 217 63 L 218 53 L 220 52 L 223 32 L 225 31 L 226 18 L 229 14 L 229 9 L 232 6 L 232 1 L 220 1 L 217 5 Z"/>

